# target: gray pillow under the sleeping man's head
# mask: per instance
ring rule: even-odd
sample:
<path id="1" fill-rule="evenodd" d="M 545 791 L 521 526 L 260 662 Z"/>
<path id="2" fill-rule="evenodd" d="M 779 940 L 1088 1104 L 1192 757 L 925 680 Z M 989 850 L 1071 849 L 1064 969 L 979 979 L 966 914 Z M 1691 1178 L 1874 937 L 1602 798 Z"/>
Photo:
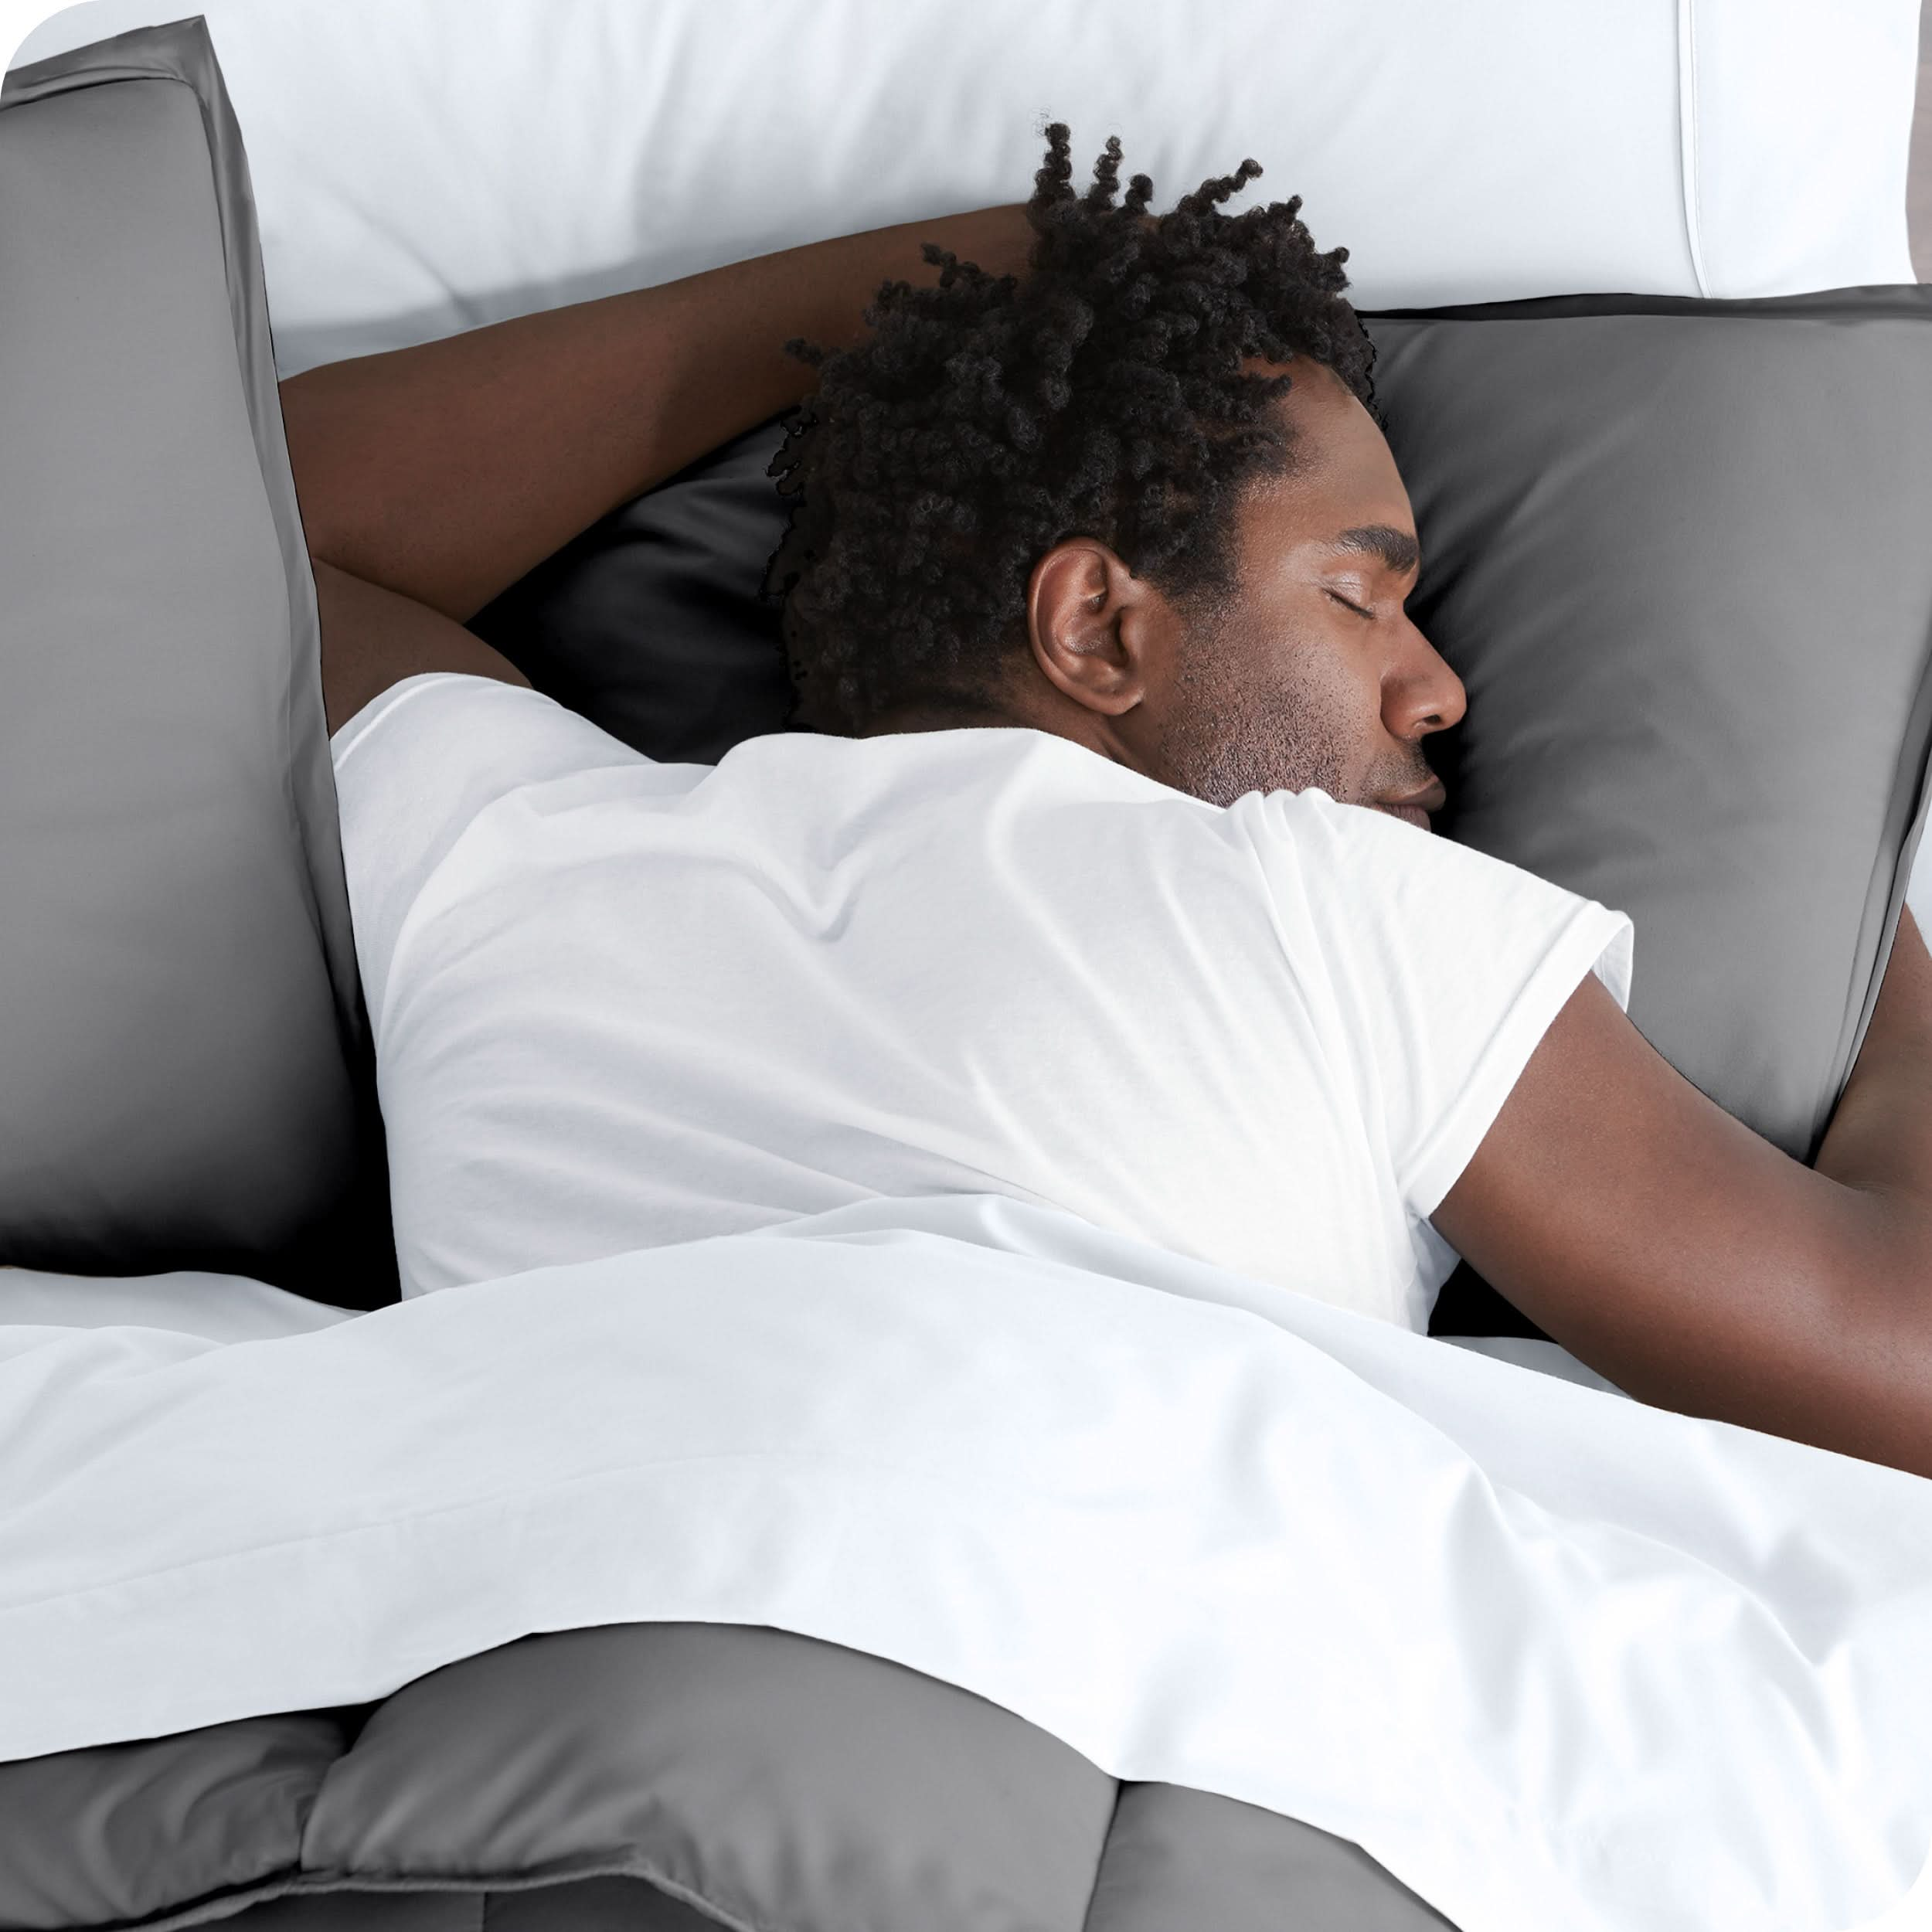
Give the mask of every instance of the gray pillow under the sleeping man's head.
<path id="1" fill-rule="evenodd" d="M 1864 1037 L 1932 746 L 1932 290 L 1364 315 L 1416 510 L 1410 612 L 1468 688 L 1443 837 L 1629 912 L 1631 1018 L 1812 1159 Z M 651 757 L 784 728 L 782 419 L 475 618 Z M 1449 1335 L 1540 1335 L 1472 1269 Z"/>

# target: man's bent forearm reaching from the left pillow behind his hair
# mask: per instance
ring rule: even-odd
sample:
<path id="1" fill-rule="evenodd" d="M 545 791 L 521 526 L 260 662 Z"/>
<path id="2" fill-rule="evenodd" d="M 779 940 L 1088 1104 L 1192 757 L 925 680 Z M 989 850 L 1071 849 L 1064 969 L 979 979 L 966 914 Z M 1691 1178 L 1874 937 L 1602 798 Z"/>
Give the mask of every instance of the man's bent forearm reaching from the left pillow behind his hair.
<path id="1" fill-rule="evenodd" d="M 804 336 L 844 348 L 933 242 L 1018 274 L 1024 207 L 873 228 L 580 301 L 282 384 L 315 558 L 456 622 L 599 516 L 804 398 Z"/>

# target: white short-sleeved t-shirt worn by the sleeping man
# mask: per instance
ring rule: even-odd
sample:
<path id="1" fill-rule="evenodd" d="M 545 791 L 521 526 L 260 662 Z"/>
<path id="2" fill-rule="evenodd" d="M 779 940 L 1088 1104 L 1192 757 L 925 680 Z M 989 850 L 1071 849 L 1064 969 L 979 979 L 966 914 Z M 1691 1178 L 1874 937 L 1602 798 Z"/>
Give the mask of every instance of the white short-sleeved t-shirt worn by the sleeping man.
<path id="1" fill-rule="evenodd" d="M 433 672 L 334 740 L 404 1293 L 997 1192 L 1426 1329 L 1428 1213 L 1625 914 L 1051 732 L 663 765 Z"/>

